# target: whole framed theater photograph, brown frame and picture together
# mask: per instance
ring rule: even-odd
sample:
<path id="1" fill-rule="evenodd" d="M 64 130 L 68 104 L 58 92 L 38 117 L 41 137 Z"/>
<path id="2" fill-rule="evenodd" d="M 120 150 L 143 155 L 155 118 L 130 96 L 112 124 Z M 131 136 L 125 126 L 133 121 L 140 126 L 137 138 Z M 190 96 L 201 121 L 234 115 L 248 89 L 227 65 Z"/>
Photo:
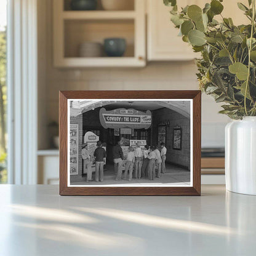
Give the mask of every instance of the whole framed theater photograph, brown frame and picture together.
<path id="1" fill-rule="evenodd" d="M 61 91 L 59 117 L 61 195 L 201 194 L 201 91 Z"/>

